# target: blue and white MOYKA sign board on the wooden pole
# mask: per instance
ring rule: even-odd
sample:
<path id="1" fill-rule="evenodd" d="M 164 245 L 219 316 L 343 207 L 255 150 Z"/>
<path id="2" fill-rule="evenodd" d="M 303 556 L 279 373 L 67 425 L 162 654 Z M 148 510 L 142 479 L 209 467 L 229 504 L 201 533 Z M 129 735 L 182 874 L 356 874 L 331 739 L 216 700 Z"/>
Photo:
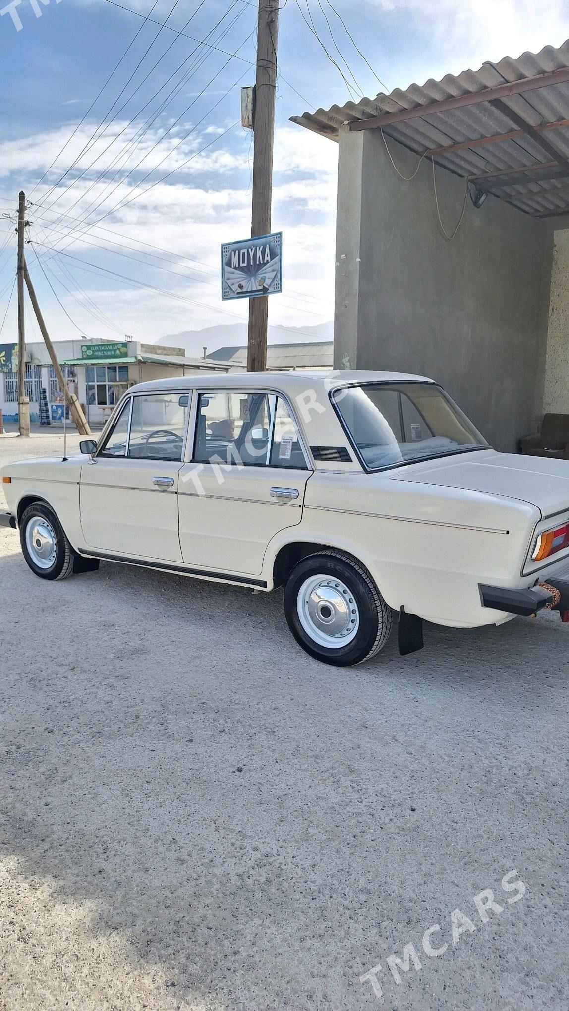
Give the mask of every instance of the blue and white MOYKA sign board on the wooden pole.
<path id="1" fill-rule="evenodd" d="M 221 298 L 273 295 L 282 288 L 282 232 L 221 247 Z"/>

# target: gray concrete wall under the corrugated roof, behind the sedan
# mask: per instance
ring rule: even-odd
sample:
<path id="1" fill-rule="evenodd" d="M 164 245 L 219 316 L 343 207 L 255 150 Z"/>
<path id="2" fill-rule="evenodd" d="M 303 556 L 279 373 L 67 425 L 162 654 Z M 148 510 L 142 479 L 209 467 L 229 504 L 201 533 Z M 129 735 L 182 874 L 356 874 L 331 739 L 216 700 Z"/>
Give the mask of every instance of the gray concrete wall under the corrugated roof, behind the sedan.
<path id="1" fill-rule="evenodd" d="M 397 168 L 417 156 L 389 140 Z M 436 167 L 455 227 L 465 181 Z M 552 231 L 489 196 L 447 241 L 433 166 L 394 171 L 381 133 L 340 137 L 335 365 L 432 376 L 488 441 L 513 451 L 543 408 Z"/>

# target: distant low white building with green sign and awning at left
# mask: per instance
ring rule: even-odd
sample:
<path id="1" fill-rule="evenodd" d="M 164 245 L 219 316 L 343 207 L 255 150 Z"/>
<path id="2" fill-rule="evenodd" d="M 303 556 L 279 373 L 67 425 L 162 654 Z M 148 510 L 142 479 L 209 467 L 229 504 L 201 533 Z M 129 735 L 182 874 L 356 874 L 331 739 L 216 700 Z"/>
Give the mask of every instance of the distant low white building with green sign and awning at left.
<path id="1" fill-rule="evenodd" d="M 137 341 L 58 341 L 58 360 L 69 389 L 75 393 L 89 426 L 100 428 L 128 386 L 147 379 L 228 372 L 230 365 L 187 358 L 182 348 Z M 64 397 L 43 342 L 26 344 L 25 395 L 32 424 L 63 422 Z M 4 421 L 18 421 L 17 344 L 0 345 L 0 409 Z M 43 392 L 42 392 L 43 391 Z M 69 417 L 69 415 L 68 415 Z"/>

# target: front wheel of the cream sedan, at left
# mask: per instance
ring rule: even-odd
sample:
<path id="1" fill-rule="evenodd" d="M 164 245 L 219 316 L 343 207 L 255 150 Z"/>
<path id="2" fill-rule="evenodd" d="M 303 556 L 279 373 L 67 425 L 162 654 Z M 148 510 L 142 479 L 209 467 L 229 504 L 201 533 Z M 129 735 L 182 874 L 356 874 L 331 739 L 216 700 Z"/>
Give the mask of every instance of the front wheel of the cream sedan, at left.
<path id="1" fill-rule="evenodd" d="M 20 522 L 22 554 L 41 579 L 67 579 L 73 573 L 73 550 L 56 514 L 44 502 L 32 502 Z"/>

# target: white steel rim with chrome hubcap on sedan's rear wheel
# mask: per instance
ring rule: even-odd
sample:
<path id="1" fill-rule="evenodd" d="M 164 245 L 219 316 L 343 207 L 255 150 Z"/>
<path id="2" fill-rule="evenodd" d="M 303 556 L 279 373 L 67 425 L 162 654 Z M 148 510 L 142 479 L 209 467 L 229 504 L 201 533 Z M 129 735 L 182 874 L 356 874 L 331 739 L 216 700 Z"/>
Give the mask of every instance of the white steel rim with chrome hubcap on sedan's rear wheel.
<path id="1" fill-rule="evenodd" d="M 310 639 L 327 649 L 341 649 L 352 642 L 360 626 L 354 594 L 341 579 L 310 576 L 298 591 L 296 610 Z"/>

